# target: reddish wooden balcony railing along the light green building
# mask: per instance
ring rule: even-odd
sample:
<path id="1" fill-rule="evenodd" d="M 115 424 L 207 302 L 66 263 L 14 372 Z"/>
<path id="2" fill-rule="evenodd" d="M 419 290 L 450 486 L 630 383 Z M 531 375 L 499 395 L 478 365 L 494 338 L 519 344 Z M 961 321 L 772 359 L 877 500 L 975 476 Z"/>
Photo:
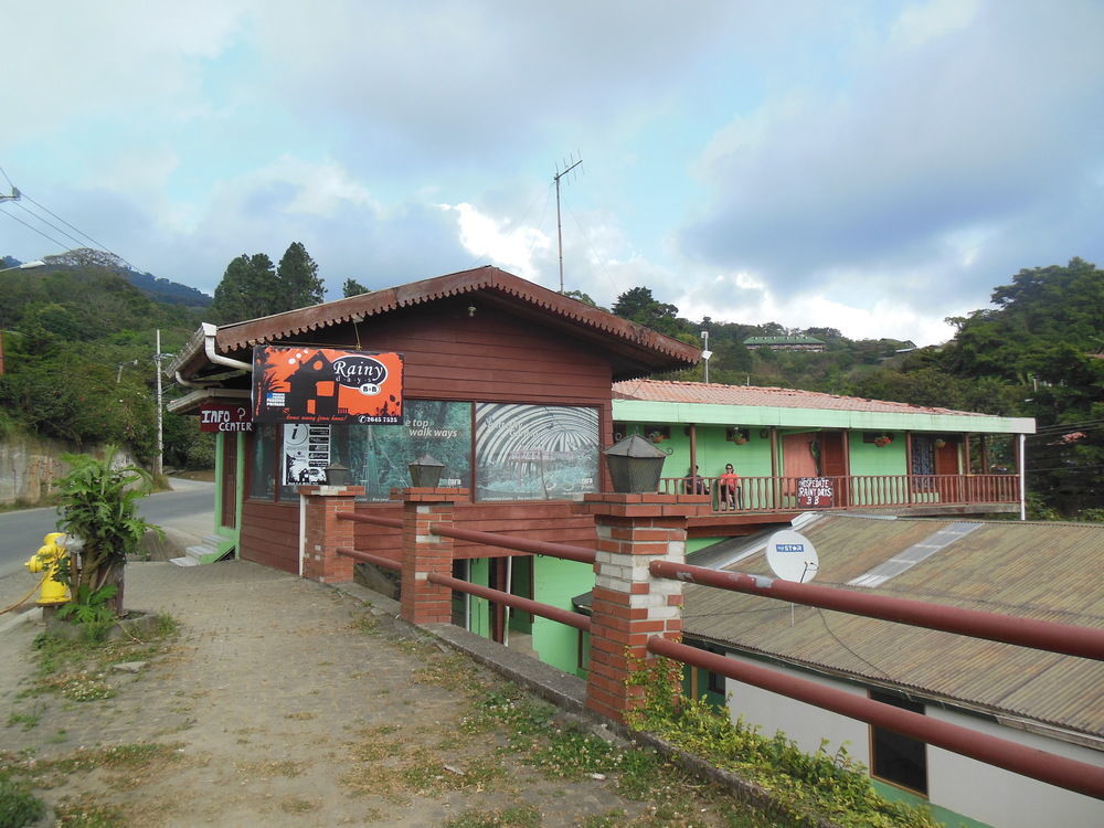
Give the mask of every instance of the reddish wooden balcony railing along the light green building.
<path id="1" fill-rule="evenodd" d="M 734 492 L 719 478 L 665 477 L 665 495 L 710 493 L 718 512 L 773 512 L 857 507 L 1018 503 L 1017 475 L 860 475 L 851 477 L 742 477 Z"/>

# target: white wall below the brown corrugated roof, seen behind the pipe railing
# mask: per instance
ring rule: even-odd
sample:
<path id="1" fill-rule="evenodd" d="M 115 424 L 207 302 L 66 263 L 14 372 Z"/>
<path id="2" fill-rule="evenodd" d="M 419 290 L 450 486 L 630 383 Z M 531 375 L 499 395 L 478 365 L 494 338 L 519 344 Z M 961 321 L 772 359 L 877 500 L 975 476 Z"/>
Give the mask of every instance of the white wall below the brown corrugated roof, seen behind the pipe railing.
<path id="1" fill-rule="evenodd" d="M 735 660 L 745 660 L 730 655 Z M 747 664 L 762 662 L 747 660 Z M 866 696 L 863 688 L 772 665 L 789 676 L 813 679 L 838 690 Z M 740 681 L 726 679 L 730 694 L 729 712 L 733 721 L 743 718 L 747 724 L 760 725 L 764 735 L 783 731 L 804 751 L 814 752 L 822 739 L 829 752 L 841 745 L 864 765 L 870 764 L 870 729 L 863 722 L 821 710 L 805 702 L 787 699 Z M 1036 747 L 1090 764 L 1104 761 L 1101 752 L 1060 742 L 1033 733 L 1006 728 L 977 716 L 928 705 L 926 715 L 952 722 L 981 733 Z M 888 785 L 878 785 L 880 792 Z M 1104 825 L 1104 803 L 1074 794 L 1019 774 L 1001 771 L 956 753 L 927 747 L 927 802 L 937 818 L 951 825 L 990 825 L 1000 828 L 1097 828 Z M 900 792 L 895 798 L 924 802 L 922 797 Z M 960 819 L 966 817 L 966 819 Z"/>

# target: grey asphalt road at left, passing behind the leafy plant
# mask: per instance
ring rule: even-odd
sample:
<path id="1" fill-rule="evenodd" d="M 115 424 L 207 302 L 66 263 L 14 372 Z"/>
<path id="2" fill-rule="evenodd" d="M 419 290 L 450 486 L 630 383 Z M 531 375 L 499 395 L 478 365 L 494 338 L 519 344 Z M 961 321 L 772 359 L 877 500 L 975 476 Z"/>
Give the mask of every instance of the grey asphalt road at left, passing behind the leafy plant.
<path id="1" fill-rule="evenodd" d="M 212 524 L 214 484 L 172 478 L 172 491 L 160 491 L 139 501 L 142 518 L 157 526 L 197 514 L 208 516 Z M 42 545 L 47 532 L 56 532 L 57 512 L 49 509 L 22 509 L 0 513 L 0 577 L 23 570 L 23 563 Z"/>

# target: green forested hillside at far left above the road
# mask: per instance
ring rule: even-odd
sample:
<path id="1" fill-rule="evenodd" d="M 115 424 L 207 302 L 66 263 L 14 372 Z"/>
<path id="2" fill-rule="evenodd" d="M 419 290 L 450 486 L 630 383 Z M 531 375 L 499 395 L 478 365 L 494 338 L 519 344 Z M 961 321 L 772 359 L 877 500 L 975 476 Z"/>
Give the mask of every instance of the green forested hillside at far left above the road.
<path id="1" fill-rule="evenodd" d="M 151 299 L 114 264 L 51 257 L 46 267 L 0 273 L 0 436 L 114 443 L 148 463 L 157 444 L 155 331 L 171 353 L 202 316 Z M 213 460 L 195 417 L 167 414 L 164 447 L 166 465 Z"/>

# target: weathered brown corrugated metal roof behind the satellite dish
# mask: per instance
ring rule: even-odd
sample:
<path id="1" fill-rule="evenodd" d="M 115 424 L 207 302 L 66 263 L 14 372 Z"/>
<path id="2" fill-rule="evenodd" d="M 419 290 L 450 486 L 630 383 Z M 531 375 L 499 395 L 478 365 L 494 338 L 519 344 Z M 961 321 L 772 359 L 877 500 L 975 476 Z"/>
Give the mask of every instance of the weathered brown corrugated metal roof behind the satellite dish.
<path id="1" fill-rule="evenodd" d="M 820 516 L 804 528 L 817 584 L 847 587 L 952 521 Z M 949 606 L 1104 627 L 1104 527 L 979 522 L 869 591 Z M 763 554 L 729 569 L 771 574 Z M 698 585 L 687 635 L 921 696 L 1104 739 L 1104 664 Z"/>

